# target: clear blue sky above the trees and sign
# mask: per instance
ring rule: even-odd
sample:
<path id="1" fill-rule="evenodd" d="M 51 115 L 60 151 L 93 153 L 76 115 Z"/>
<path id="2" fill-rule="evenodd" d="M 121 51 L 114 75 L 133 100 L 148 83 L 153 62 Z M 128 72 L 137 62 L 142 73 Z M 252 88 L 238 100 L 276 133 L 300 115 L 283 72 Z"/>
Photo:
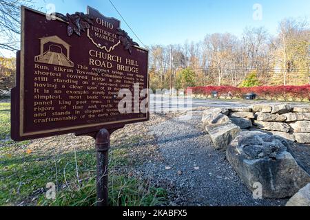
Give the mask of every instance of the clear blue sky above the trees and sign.
<path id="1" fill-rule="evenodd" d="M 121 20 L 109 0 L 34 0 L 42 12 L 54 4 L 56 12 L 86 12 L 87 5 L 107 17 Z M 206 34 L 230 32 L 240 36 L 246 27 L 265 26 L 276 34 L 278 23 L 287 17 L 310 21 L 309 0 L 112 0 L 143 45 L 171 45 L 202 41 Z M 310 23 L 310 22 L 309 22 Z"/>

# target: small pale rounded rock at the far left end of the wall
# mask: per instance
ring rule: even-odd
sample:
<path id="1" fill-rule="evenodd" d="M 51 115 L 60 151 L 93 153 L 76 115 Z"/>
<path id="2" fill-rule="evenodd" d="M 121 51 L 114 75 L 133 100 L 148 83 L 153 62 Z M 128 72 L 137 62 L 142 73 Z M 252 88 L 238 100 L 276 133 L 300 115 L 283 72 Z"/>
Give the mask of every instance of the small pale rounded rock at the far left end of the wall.
<path id="1" fill-rule="evenodd" d="M 230 120 L 225 113 L 225 109 L 214 108 L 208 109 L 203 112 L 203 124 L 226 124 L 229 123 Z"/>

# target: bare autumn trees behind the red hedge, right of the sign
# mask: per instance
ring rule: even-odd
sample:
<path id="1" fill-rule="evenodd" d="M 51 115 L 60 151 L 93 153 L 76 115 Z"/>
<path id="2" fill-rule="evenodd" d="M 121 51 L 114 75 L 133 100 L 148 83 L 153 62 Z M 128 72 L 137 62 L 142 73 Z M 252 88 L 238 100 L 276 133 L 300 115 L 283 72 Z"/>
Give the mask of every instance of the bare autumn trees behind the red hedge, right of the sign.
<path id="1" fill-rule="evenodd" d="M 151 87 L 307 85 L 309 43 L 309 23 L 290 18 L 279 22 L 276 36 L 263 27 L 245 28 L 240 37 L 216 33 L 198 43 L 152 45 Z M 247 78 L 256 83 L 246 85 Z"/>

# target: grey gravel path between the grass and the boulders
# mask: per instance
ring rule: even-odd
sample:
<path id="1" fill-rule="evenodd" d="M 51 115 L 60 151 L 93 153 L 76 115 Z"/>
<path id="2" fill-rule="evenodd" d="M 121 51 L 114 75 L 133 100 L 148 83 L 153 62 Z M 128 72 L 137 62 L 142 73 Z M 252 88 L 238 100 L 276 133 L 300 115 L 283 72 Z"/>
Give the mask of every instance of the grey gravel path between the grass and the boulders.
<path id="1" fill-rule="evenodd" d="M 172 206 L 284 206 L 287 199 L 253 199 L 216 151 L 201 124 L 201 111 L 191 120 L 182 115 L 149 131 L 156 137 L 162 161 L 143 164 L 141 171 L 158 186 L 174 192 Z M 170 193 L 169 193 L 170 194 Z"/>

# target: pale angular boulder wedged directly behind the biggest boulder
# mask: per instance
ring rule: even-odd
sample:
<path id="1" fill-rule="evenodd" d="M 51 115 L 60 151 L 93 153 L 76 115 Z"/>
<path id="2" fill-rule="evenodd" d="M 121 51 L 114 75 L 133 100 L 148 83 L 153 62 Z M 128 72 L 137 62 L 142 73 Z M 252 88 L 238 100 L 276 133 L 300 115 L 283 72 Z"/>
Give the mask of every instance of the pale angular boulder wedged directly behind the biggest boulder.
<path id="1" fill-rule="evenodd" d="M 220 150 L 226 150 L 228 144 L 240 133 L 241 129 L 236 124 L 209 124 L 206 126 L 214 147 Z"/>

